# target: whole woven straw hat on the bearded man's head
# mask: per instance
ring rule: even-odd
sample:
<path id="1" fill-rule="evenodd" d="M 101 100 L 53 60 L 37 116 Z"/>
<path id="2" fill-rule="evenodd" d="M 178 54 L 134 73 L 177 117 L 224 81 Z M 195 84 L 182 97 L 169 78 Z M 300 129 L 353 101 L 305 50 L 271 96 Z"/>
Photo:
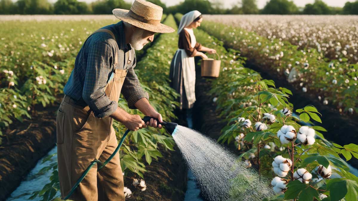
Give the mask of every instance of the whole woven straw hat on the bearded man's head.
<path id="1" fill-rule="evenodd" d="M 112 13 L 122 21 L 155 33 L 175 31 L 173 28 L 160 23 L 163 8 L 148 1 L 135 0 L 130 10 L 117 8 L 113 9 Z"/>

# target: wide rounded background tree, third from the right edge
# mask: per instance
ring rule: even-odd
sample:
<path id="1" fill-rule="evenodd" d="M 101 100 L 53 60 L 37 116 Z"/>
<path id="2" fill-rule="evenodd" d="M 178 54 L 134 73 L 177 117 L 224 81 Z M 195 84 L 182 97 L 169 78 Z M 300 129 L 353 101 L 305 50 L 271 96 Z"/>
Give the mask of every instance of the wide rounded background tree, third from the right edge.
<path id="1" fill-rule="evenodd" d="M 270 0 L 261 11 L 262 14 L 290 15 L 298 14 L 299 10 L 293 1 Z"/>

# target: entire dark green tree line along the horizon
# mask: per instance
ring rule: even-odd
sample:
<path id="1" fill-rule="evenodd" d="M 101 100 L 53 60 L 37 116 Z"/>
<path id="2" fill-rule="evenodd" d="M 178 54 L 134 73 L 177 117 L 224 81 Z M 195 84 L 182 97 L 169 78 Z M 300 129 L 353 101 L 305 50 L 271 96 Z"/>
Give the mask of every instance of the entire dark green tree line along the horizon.
<path id="1" fill-rule="evenodd" d="M 163 7 L 166 14 L 199 10 L 203 14 L 305 14 L 305 15 L 358 15 L 358 0 L 345 3 L 343 8 L 331 7 L 322 0 L 297 7 L 290 0 L 270 0 L 263 9 L 258 9 L 256 0 L 240 0 L 230 9 L 222 8 L 219 0 L 185 0 L 178 5 L 167 7 L 160 0 L 148 0 Z M 90 4 L 77 0 L 0 0 L 0 14 L 112 14 L 113 8 L 130 9 L 124 0 L 97 0 Z"/>

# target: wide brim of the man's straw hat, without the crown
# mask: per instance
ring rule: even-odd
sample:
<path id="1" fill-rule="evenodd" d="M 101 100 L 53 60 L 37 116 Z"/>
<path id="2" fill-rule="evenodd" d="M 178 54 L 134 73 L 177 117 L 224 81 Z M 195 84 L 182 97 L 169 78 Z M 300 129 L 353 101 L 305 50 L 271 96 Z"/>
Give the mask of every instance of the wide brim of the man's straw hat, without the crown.
<path id="1" fill-rule="evenodd" d="M 141 29 L 153 31 L 155 33 L 171 33 L 171 32 L 175 31 L 170 26 L 167 26 L 167 25 L 164 25 L 161 23 L 158 25 L 153 25 L 153 24 L 147 24 L 147 23 L 141 22 L 139 20 L 136 20 L 136 19 L 132 18 L 131 16 L 129 16 L 128 12 L 129 12 L 129 10 L 119 9 L 119 8 L 112 10 L 112 13 L 114 16 L 116 16 L 116 18 L 118 18 L 122 21 L 125 21 L 131 25 L 134 25 L 136 27 L 139 27 Z"/>

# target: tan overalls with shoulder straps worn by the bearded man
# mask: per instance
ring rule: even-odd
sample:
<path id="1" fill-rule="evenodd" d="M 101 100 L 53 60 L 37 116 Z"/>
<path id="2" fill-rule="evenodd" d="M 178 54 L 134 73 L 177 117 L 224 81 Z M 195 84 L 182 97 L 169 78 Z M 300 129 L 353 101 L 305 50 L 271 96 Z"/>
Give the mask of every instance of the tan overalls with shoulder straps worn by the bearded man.
<path id="1" fill-rule="evenodd" d="M 107 32 L 115 39 L 110 30 L 99 29 L 94 33 L 97 32 Z M 131 50 L 128 51 L 127 69 L 131 60 L 130 52 Z M 116 52 L 115 64 L 117 62 Z M 105 94 L 110 100 L 118 102 L 127 69 L 114 69 L 113 79 L 105 88 Z M 93 160 L 104 162 L 116 149 L 118 142 L 112 122 L 113 118 L 109 116 L 96 118 L 88 106 L 76 105 L 76 100 L 64 96 L 57 112 L 58 172 L 62 198 L 68 195 Z M 117 153 L 100 171 L 97 172 L 97 165 L 94 165 L 69 199 L 124 201 L 123 188 L 122 169 Z"/>

